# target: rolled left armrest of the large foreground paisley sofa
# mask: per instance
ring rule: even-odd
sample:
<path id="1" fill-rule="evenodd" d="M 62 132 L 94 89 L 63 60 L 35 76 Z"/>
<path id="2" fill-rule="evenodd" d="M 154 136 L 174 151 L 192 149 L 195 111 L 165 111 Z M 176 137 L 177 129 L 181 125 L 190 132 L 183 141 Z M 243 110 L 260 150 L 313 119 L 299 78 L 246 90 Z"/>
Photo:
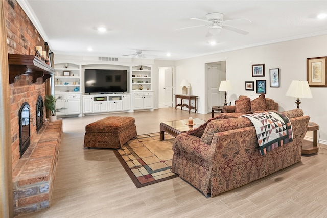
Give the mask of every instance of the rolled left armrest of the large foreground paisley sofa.
<path id="1" fill-rule="evenodd" d="M 180 150 L 191 153 L 208 162 L 214 161 L 215 148 L 211 144 L 205 144 L 194 135 L 181 133 L 176 136 L 173 143 L 174 153 L 180 153 Z"/>

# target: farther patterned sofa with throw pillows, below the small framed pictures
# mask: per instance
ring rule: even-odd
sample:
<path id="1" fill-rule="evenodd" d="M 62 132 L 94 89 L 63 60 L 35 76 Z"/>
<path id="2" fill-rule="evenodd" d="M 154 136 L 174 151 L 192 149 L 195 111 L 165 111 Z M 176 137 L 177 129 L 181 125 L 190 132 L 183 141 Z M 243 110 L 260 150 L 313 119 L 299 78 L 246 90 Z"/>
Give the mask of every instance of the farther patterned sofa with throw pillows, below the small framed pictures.
<path id="1" fill-rule="evenodd" d="M 252 98 L 255 96 L 252 96 Z M 278 111 L 278 103 L 273 99 L 265 98 L 265 94 L 251 100 L 248 96 L 240 95 L 235 100 L 235 105 L 226 105 L 222 109 L 222 116 L 225 118 L 239 117 L 249 113 L 259 113 L 263 111 Z"/>

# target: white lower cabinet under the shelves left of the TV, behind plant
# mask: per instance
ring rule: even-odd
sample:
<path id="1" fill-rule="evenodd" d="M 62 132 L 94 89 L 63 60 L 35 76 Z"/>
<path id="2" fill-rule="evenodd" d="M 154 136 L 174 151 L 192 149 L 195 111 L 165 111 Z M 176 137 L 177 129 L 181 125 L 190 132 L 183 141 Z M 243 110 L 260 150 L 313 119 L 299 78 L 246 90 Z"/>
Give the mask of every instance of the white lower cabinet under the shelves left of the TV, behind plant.
<path id="1" fill-rule="evenodd" d="M 56 112 L 57 116 L 79 115 L 81 113 L 81 94 L 57 94 L 61 96 L 56 102 L 56 108 L 63 108 Z"/>

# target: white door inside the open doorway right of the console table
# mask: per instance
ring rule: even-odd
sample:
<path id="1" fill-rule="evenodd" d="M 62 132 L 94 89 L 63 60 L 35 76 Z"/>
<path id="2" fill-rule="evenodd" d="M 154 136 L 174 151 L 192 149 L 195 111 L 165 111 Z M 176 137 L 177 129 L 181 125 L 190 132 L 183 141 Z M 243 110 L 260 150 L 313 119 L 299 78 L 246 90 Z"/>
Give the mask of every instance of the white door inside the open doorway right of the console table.
<path id="1" fill-rule="evenodd" d="M 212 106 L 220 105 L 220 94 L 218 92 L 220 83 L 220 65 L 208 66 L 207 78 L 207 113 L 210 113 Z"/>

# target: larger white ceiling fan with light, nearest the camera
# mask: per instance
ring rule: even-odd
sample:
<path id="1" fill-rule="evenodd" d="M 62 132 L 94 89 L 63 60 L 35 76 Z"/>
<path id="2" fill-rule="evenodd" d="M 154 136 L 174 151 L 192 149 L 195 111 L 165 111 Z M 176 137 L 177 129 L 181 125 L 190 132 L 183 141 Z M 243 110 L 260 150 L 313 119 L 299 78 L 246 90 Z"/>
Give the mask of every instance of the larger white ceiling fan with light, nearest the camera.
<path id="1" fill-rule="evenodd" d="M 212 35 L 217 35 L 220 33 L 222 29 L 227 29 L 231 30 L 243 35 L 249 34 L 248 31 L 242 30 L 236 27 L 232 27 L 229 25 L 226 25 L 225 23 L 231 22 L 231 21 L 246 21 L 246 22 L 251 22 L 251 20 L 242 18 L 242 19 L 233 19 L 233 20 L 223 20 L 224 14 L 219 13 L 219 12 L 213 12 L 213 13 L 208 13 L 205 15 L 206 20 L 204 19 L 199 19 L 199 18 L 190 18 L 193 20 L 200 20 L 203 22 L 206 22 L 206 25 L 199 25 L 199 26 L 192 26 L 192 27 L 184 27 L 184 28 L 179 28 L 177 30 L 182 30 L 182 29 L 188 29 L 188 28 L 194 28 L 194 27 L 208 27 L 208 32 L 206 34 L 206 37 L 212 36 Z"/>

